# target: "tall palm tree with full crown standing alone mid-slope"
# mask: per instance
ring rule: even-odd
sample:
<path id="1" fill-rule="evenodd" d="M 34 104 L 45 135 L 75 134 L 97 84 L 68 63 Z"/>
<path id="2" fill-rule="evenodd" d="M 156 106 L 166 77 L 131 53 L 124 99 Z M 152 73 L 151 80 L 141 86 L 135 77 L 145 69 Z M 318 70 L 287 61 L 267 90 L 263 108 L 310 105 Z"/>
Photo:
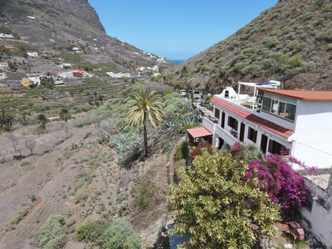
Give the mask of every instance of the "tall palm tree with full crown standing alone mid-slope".
<path id="1" fill-rule="evenodd" d="M 138 92 L 131 94 L 130 107 L 126 110 L 126 117 L 129 118 L 131 127 L 139 127 L 143 124 L 145 156 L 147 151 L 147 120 L 153 127 L 162 122 L 163 102 L 157 91 L 142 88 Z"/>

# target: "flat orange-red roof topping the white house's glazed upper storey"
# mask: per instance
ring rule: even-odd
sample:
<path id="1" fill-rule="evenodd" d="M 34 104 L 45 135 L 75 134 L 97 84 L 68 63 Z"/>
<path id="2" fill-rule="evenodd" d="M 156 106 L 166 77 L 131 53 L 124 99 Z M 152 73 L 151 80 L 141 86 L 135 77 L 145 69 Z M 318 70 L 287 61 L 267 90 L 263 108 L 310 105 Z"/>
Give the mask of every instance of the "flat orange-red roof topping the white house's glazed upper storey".
<path id="1" fill-rule="evenodd" d="M 279 89 L 259 89 L 269 93 L 277 93 L 300 100 L 332 101 L 332 91 L 307 91 L 307 90 L 279 90 Z"/>

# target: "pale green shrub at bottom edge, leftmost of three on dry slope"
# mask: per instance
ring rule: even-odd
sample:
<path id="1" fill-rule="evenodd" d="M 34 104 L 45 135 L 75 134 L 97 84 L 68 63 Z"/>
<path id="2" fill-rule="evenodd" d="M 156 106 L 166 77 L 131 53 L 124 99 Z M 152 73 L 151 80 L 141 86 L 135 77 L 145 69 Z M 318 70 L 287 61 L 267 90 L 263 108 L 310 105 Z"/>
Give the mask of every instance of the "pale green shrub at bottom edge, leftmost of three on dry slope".
<path id="1" fill-rule="evenodd" d="M 57 214 L 51 216 L 42 228 L 39 237 L 39 247 L 42 249 L 63 248 L 67 243 L 64 216 Z"/>

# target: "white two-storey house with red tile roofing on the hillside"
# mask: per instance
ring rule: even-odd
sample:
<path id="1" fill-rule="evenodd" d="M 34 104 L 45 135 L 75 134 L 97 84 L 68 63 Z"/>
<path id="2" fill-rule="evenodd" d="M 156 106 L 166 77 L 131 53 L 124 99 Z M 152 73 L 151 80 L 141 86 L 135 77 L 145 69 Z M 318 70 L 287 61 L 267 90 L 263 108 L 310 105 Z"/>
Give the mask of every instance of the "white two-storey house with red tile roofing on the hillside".
<path id="1" fill-rule="evenodd" d="M 227 91 L 212 97 L 213 117 L 203 118 L 212 145 L 221 149 L 241 141 L 265 154 L 295 156 L 319 169 L 331 167 L 332 91 L 257 87 L 253 97 Z"/>

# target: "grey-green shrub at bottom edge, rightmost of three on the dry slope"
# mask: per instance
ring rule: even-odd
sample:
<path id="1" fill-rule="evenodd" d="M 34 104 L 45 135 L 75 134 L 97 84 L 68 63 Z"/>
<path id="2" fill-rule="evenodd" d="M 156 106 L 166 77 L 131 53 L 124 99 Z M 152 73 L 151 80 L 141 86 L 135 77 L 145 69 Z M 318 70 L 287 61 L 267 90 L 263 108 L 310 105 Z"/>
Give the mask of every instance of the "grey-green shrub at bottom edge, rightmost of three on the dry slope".
<path id="1" fill-rule="evenodd" d="M 128 225 L 124 218 L 116 219 L 100 239 L 102 249 L 138 249 L 142 239 Z"/>

